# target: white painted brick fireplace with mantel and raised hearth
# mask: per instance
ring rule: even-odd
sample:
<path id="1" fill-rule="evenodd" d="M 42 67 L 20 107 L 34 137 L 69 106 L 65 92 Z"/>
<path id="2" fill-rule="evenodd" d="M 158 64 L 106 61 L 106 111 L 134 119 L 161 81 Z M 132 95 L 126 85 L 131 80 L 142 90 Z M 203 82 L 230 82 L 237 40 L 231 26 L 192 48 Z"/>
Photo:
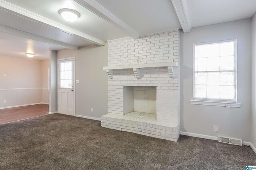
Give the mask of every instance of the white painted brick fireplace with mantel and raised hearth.
<path id="1" fill-rule="evenodd" d="M 179 32 L 108 41 L 108 114 L 102 127 L 177 141 Z"/>

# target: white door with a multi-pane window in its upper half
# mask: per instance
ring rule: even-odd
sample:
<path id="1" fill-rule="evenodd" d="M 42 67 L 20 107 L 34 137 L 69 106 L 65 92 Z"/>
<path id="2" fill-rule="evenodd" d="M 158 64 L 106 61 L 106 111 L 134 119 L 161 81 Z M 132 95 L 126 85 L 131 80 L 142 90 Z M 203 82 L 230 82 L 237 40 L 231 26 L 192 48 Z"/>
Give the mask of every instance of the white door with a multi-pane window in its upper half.
<path id="1" fill-rule="evenodd" d="M 74 59 L 58 61 L 58 111 L 74 115 Z"/>

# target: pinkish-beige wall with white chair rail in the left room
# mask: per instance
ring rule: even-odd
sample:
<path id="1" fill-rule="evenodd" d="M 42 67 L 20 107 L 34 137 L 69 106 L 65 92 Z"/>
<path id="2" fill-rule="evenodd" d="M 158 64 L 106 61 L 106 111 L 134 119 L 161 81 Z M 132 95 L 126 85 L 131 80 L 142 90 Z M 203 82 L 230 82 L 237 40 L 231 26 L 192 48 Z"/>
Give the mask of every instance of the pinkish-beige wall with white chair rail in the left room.
<path id="1" fill-rule="evenodd" d="M 0 107 L 48 103 L 42 95 L 42 76 L 46 74 L 48 79 L 43 63 L 47 61 L 0 56 Z"/>

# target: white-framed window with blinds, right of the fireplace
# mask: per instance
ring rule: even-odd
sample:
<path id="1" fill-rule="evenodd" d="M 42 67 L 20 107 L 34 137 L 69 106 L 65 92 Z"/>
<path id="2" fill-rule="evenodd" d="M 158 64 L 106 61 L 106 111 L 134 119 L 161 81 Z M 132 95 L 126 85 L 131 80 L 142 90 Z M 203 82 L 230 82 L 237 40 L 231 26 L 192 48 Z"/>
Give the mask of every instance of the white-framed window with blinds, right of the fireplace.
<path id="1" fill-rule="evenodd" d="M 193 46 L 193 101 L 200 101 L 200 104 L 206 101 L 205 105 L 211 105 L 209 102 L 236 103 L 237 40 L 196 43 Z"/>

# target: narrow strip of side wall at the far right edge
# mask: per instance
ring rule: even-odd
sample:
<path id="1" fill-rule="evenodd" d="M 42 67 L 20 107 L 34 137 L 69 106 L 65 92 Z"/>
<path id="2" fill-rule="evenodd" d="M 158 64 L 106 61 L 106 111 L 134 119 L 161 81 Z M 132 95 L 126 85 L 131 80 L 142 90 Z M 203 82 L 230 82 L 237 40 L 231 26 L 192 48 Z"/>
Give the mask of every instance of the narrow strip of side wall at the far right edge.
<path id="1" fill-rule="evenodd" d="M 251 142 L 256 147 L 256 13 L 252 17 L 252 116 Z"/>

